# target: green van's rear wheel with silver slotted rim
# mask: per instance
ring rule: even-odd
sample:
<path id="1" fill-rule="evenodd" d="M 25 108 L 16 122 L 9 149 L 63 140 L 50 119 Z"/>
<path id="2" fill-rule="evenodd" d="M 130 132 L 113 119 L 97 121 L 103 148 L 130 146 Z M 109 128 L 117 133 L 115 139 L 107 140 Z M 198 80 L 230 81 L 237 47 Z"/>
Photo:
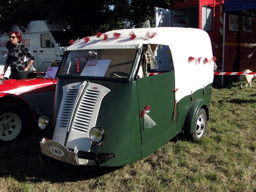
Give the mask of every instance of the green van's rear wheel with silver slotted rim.
<path id="1" fill-rule="evenodd" d="M 200 140 L 205 133 L 205 128 L 207 128 L 207 114 L 204 108 L 200 108 L 200 110 L 196 114 L 195 122 L 193 124 L 193 133 L 191 135 L 194 141 Z"/>

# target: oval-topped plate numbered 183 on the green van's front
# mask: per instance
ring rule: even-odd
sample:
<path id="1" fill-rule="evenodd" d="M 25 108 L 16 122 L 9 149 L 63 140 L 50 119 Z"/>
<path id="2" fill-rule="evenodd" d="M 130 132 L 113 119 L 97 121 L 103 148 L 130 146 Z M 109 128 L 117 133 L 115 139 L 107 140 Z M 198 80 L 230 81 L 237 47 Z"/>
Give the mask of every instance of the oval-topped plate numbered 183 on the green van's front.
<path id="1" fill-rule="evenodd" d="M 42 153 L 57 160 L 68 162 L 73 165 L 79 165 L 77 153 L 69 151 L 61 143 L 54 140 L 42 140 L 40 142 Z"/>

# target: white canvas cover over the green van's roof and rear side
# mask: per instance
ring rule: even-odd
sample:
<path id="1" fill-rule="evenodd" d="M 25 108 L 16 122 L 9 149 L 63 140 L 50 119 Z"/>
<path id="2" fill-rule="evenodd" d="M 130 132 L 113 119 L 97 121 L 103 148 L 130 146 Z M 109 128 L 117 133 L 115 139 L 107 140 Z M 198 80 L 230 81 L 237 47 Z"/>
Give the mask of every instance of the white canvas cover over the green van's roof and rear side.
<path id="1" fill-rule="evenodd" d="M 114 34 L 119 34 L 119 38 L 115 38 Z M 109 31 L 105 36 L 108 39 L 102 39 L 104 35 L 101 35 L 99 38 L 90 36 L 76 40 L 67 50 L 132 49 L 141 48 L 143 44 L 168 45 L 174 61 L 177 102 L 213 82 L 212 45 L 209 35 L 203 30 L 180 27 L 132 28 Z M 131 36 L 135 38 L 130 39 Z"/>

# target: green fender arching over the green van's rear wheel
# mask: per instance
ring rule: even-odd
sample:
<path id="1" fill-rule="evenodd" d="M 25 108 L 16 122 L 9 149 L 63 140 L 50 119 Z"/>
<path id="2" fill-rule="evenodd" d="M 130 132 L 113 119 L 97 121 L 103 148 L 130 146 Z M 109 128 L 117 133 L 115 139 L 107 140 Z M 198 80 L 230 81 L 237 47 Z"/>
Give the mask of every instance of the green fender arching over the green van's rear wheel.
<path id="1" fill-rule="evenodd" d="M 193 102 L 187 117 L 185 119 L 183 131 L 185 134 L 191 134 L 193 133 L 193 124 L 195 123 L 195 117 L 197 112 L 200 110 L 200 108 L 204 108 L 206 114 L 207 114 L 207 120 L 209 120 L 209 109 L 207 102 L 204 99 L 197 99 L 195 102 Z"/>

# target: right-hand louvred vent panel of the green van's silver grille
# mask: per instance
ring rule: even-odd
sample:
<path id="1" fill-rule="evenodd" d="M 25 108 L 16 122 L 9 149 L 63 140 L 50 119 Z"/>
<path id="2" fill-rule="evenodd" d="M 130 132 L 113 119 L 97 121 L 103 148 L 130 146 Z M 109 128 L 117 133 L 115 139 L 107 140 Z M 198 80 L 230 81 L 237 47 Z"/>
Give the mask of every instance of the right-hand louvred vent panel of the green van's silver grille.
<path id="1" fill-rule="evenodd" d="M 75 119 L 73 120 L 72 128 L 74 130 L 88 132 L 90 120 L 96 106 L 100 91 L 87 89 L 81 98 L 77 107 Z"/>

